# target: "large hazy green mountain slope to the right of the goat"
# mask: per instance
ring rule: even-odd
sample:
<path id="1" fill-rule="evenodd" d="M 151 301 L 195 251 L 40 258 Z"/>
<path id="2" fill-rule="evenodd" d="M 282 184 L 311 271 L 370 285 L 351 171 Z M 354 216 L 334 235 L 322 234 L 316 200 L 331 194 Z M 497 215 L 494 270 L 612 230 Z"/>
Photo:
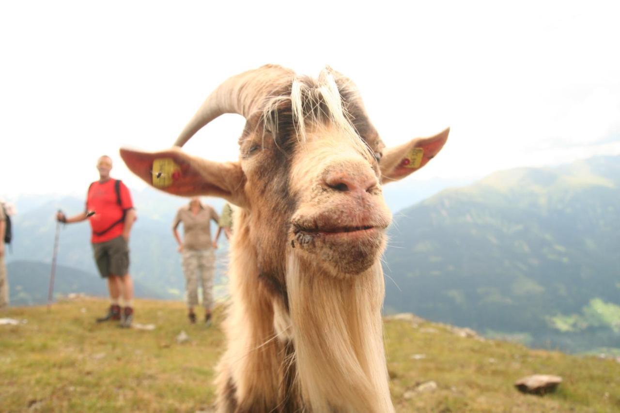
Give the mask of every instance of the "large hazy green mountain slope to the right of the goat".
<path id="1" fill-rule="evenodd" d="M 533 347 L 620 349 L 620 157 L 497 172 L 401 211 L 386 308 Z"/>

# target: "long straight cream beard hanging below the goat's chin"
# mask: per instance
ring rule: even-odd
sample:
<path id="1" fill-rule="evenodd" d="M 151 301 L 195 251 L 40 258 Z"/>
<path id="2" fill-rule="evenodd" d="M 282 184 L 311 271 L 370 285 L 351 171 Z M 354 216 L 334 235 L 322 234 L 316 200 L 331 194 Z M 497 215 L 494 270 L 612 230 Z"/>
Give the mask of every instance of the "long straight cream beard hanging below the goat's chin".
<path id="1" fill-rule="evenodd" d="M 301 391 L 313 412 L 392 412 L 377 262 L 342 280 L 289 254 L 286 285 Z"/>

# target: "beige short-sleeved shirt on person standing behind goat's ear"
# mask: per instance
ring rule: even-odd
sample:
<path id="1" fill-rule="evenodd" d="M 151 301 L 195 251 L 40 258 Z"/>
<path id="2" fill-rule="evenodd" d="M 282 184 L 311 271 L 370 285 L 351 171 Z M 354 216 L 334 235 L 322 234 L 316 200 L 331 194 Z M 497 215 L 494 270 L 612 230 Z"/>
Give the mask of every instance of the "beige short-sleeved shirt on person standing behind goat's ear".
<path id="1" fill-rule="evenodd" d="M 211 220 L 217 224 L 219 216 L 209 205 L 203 205 L 197 215 L 193 215 L 189 205 L 185 205 L 177 211 L 177 216 L 172 222 L 172 228 L 176 229 L 180 223 L 183 223 L 184 249 L 210 249 L 213 247 L 211 244 Z"/>

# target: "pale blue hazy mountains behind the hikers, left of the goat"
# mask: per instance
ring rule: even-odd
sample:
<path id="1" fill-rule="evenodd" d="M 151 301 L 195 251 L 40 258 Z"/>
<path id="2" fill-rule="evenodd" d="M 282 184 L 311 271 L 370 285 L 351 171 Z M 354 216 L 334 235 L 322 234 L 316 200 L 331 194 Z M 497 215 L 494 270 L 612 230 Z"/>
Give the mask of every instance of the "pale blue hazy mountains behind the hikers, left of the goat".
<path id="1" fill-rule="evenodd" d="M 181 299 L 185 290 L 185 279 L 181 269 L 180 254 L 172 237 L 172 219 L 177 208 L 187 202 L 184 198 L 172 197 L 152 189 L 132 192 L 133 202 L 138 211 L 138 220 L 131 231 L 131 275 L 136 282 L 148 286 L 158 297 Z M 208 202 L 221 210 L 223 202 L 209 198 Z M 14 242 L 12 252 L 7 254 L 7 262 L 20 261 L 24 270 L 27 264 L 51 263 L 56 231 L 55 212 L 58 209 L 74 215 L 84 209 L 84 200 L 76 197 L 24 197 L 17 203 L 20 213 L 14 217 Z M 30 209 L 28 209 L 30 207 Z M 216 229 L 211 226 L 211 231 Z M 215 233 L 214 233 L 215 234 Z M 91 229 L 88 223 L 61 225 L 58 248 L 58 264 L 64 269 L 79 270 L 79 275 L 89 275 L 92 283 L 102 283 L 92 259 L 90 244 Z M 216 253 L 218 269 L 216 273 L 216 292 L 222 293 L 223 270 L 226 263 L 228 242 L 222 235 Z M 43 275 L 37 265 L 33 270 Z M 59 267 L 60 270 L 60 267 Z M 62 277 L 62 275 L 60 275 Z M 9 273 L 11 291 L 19 283 L 19 275 Z M 48 270 L 45 275 L 50 277 Z M 47 282 L 43 282 L 46 284 Z M 102 283 L 103 285 L 103 283 Z M 46 287 L 47 288 L 47 287 Z M 46 290 L 47 291 L 47 290 Z M 55 288 L 58 293 L 63 291 Z M 80 292 L 75 291 L 73 292 Z M 105 292 L 105 291 L 104 291 Z M 36 295 L 35 295 L 36 296 Z M 45 295 L 47 297 L 47 293 Z"/>

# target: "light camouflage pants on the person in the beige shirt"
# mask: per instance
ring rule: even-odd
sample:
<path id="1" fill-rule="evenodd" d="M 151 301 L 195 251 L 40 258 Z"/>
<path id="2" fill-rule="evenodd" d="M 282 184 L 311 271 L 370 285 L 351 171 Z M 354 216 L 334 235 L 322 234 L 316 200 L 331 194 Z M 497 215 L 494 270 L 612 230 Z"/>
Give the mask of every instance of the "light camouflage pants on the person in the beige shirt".
<path id="1" fill-rule="evenodd" d="M 198 283 L 202 286 L 202 305 L 213 307 L 213 275 L 215 274 L 215 251 L 197 249 L 183 251 L 183 272 L 187 306 L 198 305 Z"/>

